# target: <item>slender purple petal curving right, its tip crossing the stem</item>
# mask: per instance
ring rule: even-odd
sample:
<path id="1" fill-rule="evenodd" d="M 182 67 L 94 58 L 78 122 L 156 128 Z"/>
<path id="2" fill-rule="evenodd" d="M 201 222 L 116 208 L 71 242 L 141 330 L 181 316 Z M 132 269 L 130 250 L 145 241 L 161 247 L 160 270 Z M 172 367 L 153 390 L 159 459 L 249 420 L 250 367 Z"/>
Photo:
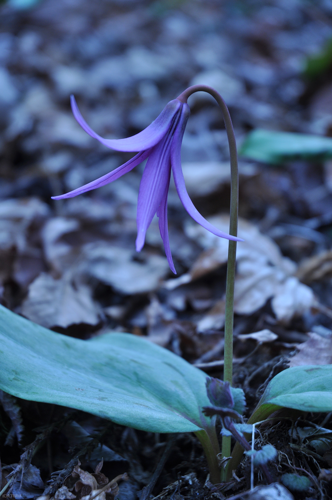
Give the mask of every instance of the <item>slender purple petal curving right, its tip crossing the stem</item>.
<path id="1" fill-rule="evenodd" d="M 220 236 L 226 239 L 231 239 L 232 241 L 243 241 L 243 239 L 241 238 L 238 238 L 236 236 L 231 236 L 230 234 L 226 234 L 225 232 L 220 231 L 219 229 L 214 227 L 214 225 L 210 224 L 210 222 L 207 222 L 207 220 L 205 220 L 204 217 L 195 208 L 186 191 L 182 168 L 181 168 L 181 142 L 184 133 L 184 128 L 189 116 L 189 112 L 190 110 L 188 104 L 183 104 L 180 122 L 178 123 L 178 126 L 174 131 L 173 140 L 171 144 L 171 152 L 170 152 L 171 167 L 178 197 L 180 198 L 181 203 L 188 212 L 188 214 L 202 227 L 205 227 L 205 229 L 212 232 L 216 236 Z"/>

